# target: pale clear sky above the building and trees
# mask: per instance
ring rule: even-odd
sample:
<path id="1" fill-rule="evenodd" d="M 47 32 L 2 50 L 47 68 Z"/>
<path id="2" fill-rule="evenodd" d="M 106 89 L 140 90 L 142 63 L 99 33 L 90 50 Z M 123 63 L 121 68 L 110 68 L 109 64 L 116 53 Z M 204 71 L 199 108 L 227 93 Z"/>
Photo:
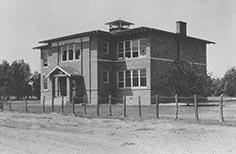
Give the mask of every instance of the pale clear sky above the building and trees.
<path id="1" fill-rule="evenodd" d="M 187 35 L 216 42 L 207 47 L 207 69 L 223 77 L 236 66 L 235 0 L 0 0 L 0 61 L 24 59 L 40 71 L 38 42 L 54 37 L 105 30 L 123 19 L 176 31 L 187 22 Z"/>

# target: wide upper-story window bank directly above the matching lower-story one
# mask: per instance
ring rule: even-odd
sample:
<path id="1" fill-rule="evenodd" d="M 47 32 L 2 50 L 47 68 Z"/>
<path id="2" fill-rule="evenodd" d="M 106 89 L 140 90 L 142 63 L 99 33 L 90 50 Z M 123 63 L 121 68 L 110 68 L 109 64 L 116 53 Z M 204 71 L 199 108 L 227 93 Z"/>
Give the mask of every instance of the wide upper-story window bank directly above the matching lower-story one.
<path id="1" fill-rule="evenodd" d="M 118 42 L 118 59 L 146 56 L 146 39 L 126 40 Z"/>

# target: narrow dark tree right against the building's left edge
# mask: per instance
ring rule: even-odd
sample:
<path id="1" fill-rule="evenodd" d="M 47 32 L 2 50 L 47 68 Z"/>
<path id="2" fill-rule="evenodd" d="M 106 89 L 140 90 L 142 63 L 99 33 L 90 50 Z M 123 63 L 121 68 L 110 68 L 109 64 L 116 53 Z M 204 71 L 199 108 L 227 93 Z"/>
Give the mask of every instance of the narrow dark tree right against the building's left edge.
<path id="1" fill-rule="evenodd" d="M 34 72 L 34 75 L 31 78 L 32 80 L 32 94 L 36 96 L 37 99 L 40 99 L 40 73 Z"/>

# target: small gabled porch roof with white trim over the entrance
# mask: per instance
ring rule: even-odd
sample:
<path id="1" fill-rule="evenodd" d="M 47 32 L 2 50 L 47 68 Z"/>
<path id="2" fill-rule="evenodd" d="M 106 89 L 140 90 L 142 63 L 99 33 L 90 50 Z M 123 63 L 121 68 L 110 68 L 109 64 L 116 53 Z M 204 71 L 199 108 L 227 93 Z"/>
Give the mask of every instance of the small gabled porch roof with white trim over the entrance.
<path id="1" fill-rule="evenodd" d="M 61 72 L 65 73 L 66 76 L 82 76 L 81 73 L 71 66 L 56 66 L 54 67 L 47 75 L 46 77 L 49 77 L 52 75 L 56 70 L 60 70 Z"/>

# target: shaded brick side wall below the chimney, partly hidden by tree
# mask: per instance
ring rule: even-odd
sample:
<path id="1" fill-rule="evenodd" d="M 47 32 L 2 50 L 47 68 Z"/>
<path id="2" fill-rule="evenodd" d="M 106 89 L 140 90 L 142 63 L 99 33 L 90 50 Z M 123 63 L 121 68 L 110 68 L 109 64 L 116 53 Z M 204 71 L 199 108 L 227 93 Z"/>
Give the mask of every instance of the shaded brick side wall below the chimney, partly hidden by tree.
<path id="1" fill-rule="evenodd" d="M 178 38 L 173 35 L 156 33 L 151 39 L 151 95 L 174 95 L 173 89 L 167 86 L 167 74 L 173 69 L 178 58 Z M 206 43 L 181 37 L 179 42 L 179 58 L 194 62 L 203 73 L 206 72 Z M 154 103 L 154 100 L 152 100 Z"/>

